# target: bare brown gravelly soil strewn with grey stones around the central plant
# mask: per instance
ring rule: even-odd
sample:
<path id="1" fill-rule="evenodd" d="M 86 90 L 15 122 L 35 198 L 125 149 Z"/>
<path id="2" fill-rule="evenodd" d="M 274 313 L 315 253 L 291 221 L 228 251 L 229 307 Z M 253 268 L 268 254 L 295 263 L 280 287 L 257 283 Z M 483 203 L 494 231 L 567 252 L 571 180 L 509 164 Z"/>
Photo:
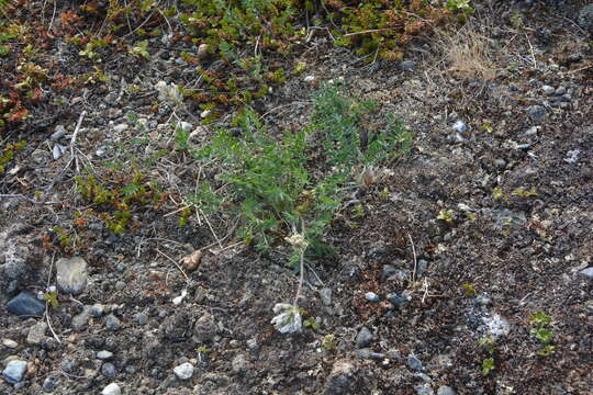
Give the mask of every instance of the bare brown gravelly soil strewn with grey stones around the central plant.
<path id="1" fill-rule="evenodd" d="M 209 133 L 147 101 L 191 65 L 167 53 L 120 67 L 0 176 L 0 394 L 590 394 L 592 19 L 582 2 L 484 1 L 400 64 L 313 42 L 306 75 L 257 103 L 267 124 L 301 127 L 315 88 L 343 80 L 380 101 L 369 127 L 391 113 L 416 138 L 358 195 L 363 215 L 335 218 L 339 253 L 307 264 L 300 302 L 314 328 L 290 336 L 270 324 L 299 281 L 286 257 L 215 222 L 180 227 L 168 203 L 135 214 L 134 232 L 86 219 L 70 249 L 53 247 L 88 205 L 76 166 L 124 155 L 138 125 L 147 142 L 126 153 L 170 148 L 174 116 Z M 125 81 L 146 93 L 122 98 Z M 77 151 L 55 155 L 72 135 Z M 177 153 L 149 171 L 177 199 L 201 169 Z"/>

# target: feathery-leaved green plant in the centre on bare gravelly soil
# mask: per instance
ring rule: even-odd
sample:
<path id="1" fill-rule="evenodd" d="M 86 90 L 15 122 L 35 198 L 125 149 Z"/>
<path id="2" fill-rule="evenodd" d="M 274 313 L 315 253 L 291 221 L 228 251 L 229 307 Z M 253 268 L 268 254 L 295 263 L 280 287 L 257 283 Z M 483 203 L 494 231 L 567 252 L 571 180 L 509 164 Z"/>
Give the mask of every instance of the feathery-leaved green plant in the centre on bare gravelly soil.
<path id="1" fill-rule="evenodd" d="M 374 106 L 355 102 L 340 95 L 337 88 L 325 86 L 315 95 L 312 124 L 282 136 L 267 133 L 258 115 L 245 109 L 234 122 L 240 128 L 238 135 L 220 131 L 197 153 L 200 159 L 220 167 L 213 181 L 221 187 L 202 182 L 191 201 L 210 212 L 231 208 L 240 218 L 238 234 L 259 251 L 269 251 L 289 233 L 302 232 L 306 223 L 306 253 L 327 253 L 331 248 L 323 236 L 340 204 L 342 192 L 353 180 L 353 167 L 394 160 L 412 144 L 412 135 L 392 119 L 362 150 L 358 124 L 361 114 Z M 307 138 L 311 135 L 316 138 Z M 178 134 L 180 146 L 187 146 L 186 138 Z M 314 145 L 314 140 L 320 144 Z M 307 159 L 320 149 L 323 177 L 314 176 Z M 222 185 L 224 193 L 215 193 Z M 293 253 L 289 261 L 293 264 L 296 260 Z"/>

